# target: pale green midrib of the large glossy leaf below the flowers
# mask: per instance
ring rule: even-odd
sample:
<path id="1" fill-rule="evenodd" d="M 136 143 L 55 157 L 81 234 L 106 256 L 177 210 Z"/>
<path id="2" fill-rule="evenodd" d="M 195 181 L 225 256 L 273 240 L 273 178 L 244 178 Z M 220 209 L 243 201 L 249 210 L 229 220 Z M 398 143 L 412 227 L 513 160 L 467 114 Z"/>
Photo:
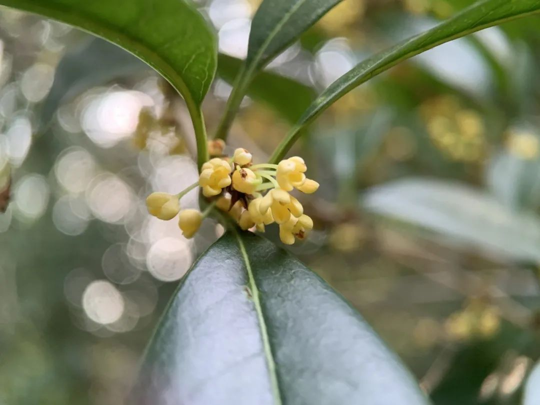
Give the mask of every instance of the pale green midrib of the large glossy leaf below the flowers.
<path id="1" fill-rule="evenodd" d="M 268 366 L 268 373 L 270 377 L 270 384 L 272 386 L 272 393 L 274 399 L 274 405 L 282 405 L 281 402 L 281 390 L 279 388 L 278 374 L 275 368 L 274 354 L 272 353 L 272 346 L 270 344 L 270 339 L 268 337 L 268 329 L 266 327 L 266 320 L 264 314 L 262 313 L 262 305 L 259 296 L 259 289 L 257 287 L 257 282 L 255 282 L 255 277 L 253 276 L 253 269 L 251 268 L 251 262 L 249 262 L 249 256 L 247 254 L 246 245 L 240 237 L 238 230 L 233 230 L 234 235 L 238 242 L 238 247 L 240 248 L 240 253 L 242 259 L 246 265 L 247 278 L 249 280 L 249 289 L 251 290 L 251 296 L 253 300 L 253 305 L 255 306 L 255 312 L 257 312 L 257 319 L 259 321 L 259 328 L 261 331 L 262 346 L 264 348 L 266 363 Z"/>

